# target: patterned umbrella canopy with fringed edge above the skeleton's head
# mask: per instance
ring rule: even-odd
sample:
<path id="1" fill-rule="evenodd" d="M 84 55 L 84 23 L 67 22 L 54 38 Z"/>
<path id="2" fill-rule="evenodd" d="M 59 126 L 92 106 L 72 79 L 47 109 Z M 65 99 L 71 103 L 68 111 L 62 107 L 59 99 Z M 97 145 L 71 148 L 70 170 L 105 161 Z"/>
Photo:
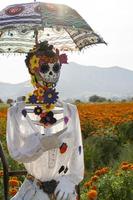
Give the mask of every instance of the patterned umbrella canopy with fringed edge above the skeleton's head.
<path id="1" fill-rule="evenodd" d="M 15 4 L 0 12 L 0 53 L 27 53 L 48 40 L 60 50 L 105 43 L 72 8 L 62 4 Z"/>

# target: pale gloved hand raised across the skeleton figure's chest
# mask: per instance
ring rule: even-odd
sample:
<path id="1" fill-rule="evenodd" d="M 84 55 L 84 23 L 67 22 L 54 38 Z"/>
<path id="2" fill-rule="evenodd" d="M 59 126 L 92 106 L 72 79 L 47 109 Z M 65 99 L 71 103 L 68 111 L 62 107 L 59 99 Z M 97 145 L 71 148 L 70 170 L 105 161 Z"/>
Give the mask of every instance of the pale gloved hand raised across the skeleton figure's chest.
<path id="1" fill-rule="evenodd" d="M 66 130 L 67 128 L 64 128 L 63 130 L 51 135 L 40 135 L 39 139 L 43 151 L 59 148 L 59 146 L 62 144 L 61 136 Z"/>

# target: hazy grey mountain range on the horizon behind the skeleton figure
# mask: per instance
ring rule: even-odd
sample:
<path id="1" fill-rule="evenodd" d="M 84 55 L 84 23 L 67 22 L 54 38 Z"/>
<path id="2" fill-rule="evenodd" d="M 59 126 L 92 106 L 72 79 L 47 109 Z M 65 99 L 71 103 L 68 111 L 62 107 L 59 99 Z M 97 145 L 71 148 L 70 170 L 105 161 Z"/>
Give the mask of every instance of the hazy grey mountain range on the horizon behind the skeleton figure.
<path id="1" fill-rule="evenodd" d="M 16 99 L 32 91 L 30 81 L 9 84 L 0 82 L 0 98 Z M 133 96 L 133 71 L 121 67 L 100 68 L 69 63 L 62 66 L 57 85 L 61 99 L 83 99 L 97 94 L 106 98 Z"/>

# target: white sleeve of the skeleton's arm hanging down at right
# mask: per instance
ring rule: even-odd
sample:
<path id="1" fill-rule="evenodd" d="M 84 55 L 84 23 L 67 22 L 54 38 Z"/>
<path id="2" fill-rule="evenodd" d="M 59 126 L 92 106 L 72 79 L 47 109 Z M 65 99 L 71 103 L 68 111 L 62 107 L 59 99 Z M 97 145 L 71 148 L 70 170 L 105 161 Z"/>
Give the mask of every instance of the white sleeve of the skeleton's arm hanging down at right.
<path id="1" fill-rule="evenodd" d="M 72 152 L 69 172 L 69 179 L 76 185 L 78 185 L 84 178 L 84 154 L 83 154 L 83 144 L 80 120 L 78 115 L 78 110 L 76 106 L 74 107 L 74 150 Z"/>

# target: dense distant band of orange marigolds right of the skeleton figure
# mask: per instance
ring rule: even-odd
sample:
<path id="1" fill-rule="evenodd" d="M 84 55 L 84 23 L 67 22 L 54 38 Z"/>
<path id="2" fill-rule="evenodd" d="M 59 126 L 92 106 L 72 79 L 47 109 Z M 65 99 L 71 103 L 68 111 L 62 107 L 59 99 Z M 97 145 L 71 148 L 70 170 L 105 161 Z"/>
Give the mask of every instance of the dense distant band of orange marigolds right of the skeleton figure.
<path id="1" fill-rule="evenodd" d="M 78 104 L 81 127 L 90 122 L 97 128 L 118 125 L 133 120 L 133 102 Z"/>

